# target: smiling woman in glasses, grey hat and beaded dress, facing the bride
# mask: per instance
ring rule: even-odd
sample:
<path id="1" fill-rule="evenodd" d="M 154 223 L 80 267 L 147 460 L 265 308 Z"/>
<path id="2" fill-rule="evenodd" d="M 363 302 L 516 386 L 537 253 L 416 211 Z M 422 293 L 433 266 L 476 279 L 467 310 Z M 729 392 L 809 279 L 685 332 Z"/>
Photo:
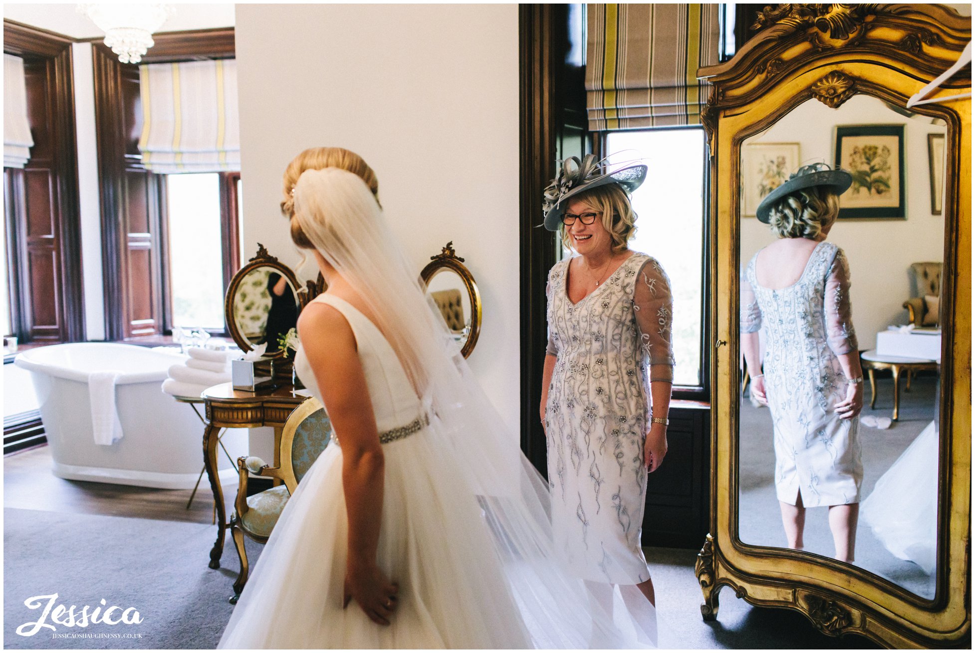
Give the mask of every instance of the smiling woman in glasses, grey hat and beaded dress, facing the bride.
<path id="1" fill-rule="evenodd" d="M 628 606 L 643 601 L 629 587 L 652 603 L 641 527 L 647 471 L 667 452 L 670 282 L 654 259 L 627 248 L 636 216 L 626 191 L 645 167 L 601 175 L 591 156 L 571 162 L 550 186 L 546 215 L 578 253 L 552 268 L 547 289 L 540 416 L 553 531 L 571 573 L 619 586 Z"/>

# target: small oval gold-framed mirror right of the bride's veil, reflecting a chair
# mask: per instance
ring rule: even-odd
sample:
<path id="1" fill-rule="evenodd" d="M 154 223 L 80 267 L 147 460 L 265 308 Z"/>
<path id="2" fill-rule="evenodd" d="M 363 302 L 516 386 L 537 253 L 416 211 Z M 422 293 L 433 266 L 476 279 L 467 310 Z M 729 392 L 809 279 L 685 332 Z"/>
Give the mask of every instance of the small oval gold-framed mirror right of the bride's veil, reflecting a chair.
<path id="1" fill-rule="evenodd" d="M 443 252 L 430 257 L 420 278 L 467 358 L 481 334 L 481 292 L 464 260 L 453 251 L 452 240 Z"/>

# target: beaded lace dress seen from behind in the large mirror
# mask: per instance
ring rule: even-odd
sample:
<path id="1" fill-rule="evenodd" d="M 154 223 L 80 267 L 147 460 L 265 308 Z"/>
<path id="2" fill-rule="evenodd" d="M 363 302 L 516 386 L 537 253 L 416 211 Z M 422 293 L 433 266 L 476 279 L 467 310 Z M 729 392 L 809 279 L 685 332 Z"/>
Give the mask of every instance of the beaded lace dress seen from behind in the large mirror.
<path id="1" fill-rule="evenodd" d="M 834 409 L 846 396 L 838 356 L 857 351 L 846 257 L 820 242 L 799 280 L 777 290 L 759 284 L 757 258 L 742 279 L 741 332 L 765 333 L 778 499 L 795 506 L 801 497 L 806 508 L 858 503 L 859 418 L 840 419 Z"/>

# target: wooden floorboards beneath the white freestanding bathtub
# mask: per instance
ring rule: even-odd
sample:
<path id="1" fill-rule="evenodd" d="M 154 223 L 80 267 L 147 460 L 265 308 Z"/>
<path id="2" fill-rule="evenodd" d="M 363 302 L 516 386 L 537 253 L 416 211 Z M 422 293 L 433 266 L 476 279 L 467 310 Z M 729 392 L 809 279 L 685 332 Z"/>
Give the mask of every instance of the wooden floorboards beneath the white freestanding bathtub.
<path id="1" fill-rule="evenodd" d="M 46 445 L 5 456 L 3 464 L 5 508 L 208 524 L 214 517 L 213 494 L 206 475 L 200 482 L 192 507 L 186 510 L 191 490 L 157 490 L 58 478 L 51 471 L 51 449 Z M 236 485 L 225 485 L 223 491 L 229 505 Z M 229 507 L 228 515 L 231 510 Z"/>

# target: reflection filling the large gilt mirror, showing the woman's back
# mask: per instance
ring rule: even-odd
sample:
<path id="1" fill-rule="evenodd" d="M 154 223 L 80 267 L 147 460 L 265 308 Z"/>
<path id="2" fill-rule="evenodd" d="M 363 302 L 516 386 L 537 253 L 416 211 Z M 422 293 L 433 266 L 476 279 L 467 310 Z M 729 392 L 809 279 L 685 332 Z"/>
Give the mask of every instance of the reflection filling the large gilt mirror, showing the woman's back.
<path id="1" fill-rule="evenodd" d="M 809 100 L 740 156 L 739 537 L 844 559 L 928 598 L 945 133 L 867 96 Z M 852 175 L 836 222 L 822 190 L 822 202 L 790 191 L 772 226 L 757 220 L 764 196 L 813 162 Z"/>

